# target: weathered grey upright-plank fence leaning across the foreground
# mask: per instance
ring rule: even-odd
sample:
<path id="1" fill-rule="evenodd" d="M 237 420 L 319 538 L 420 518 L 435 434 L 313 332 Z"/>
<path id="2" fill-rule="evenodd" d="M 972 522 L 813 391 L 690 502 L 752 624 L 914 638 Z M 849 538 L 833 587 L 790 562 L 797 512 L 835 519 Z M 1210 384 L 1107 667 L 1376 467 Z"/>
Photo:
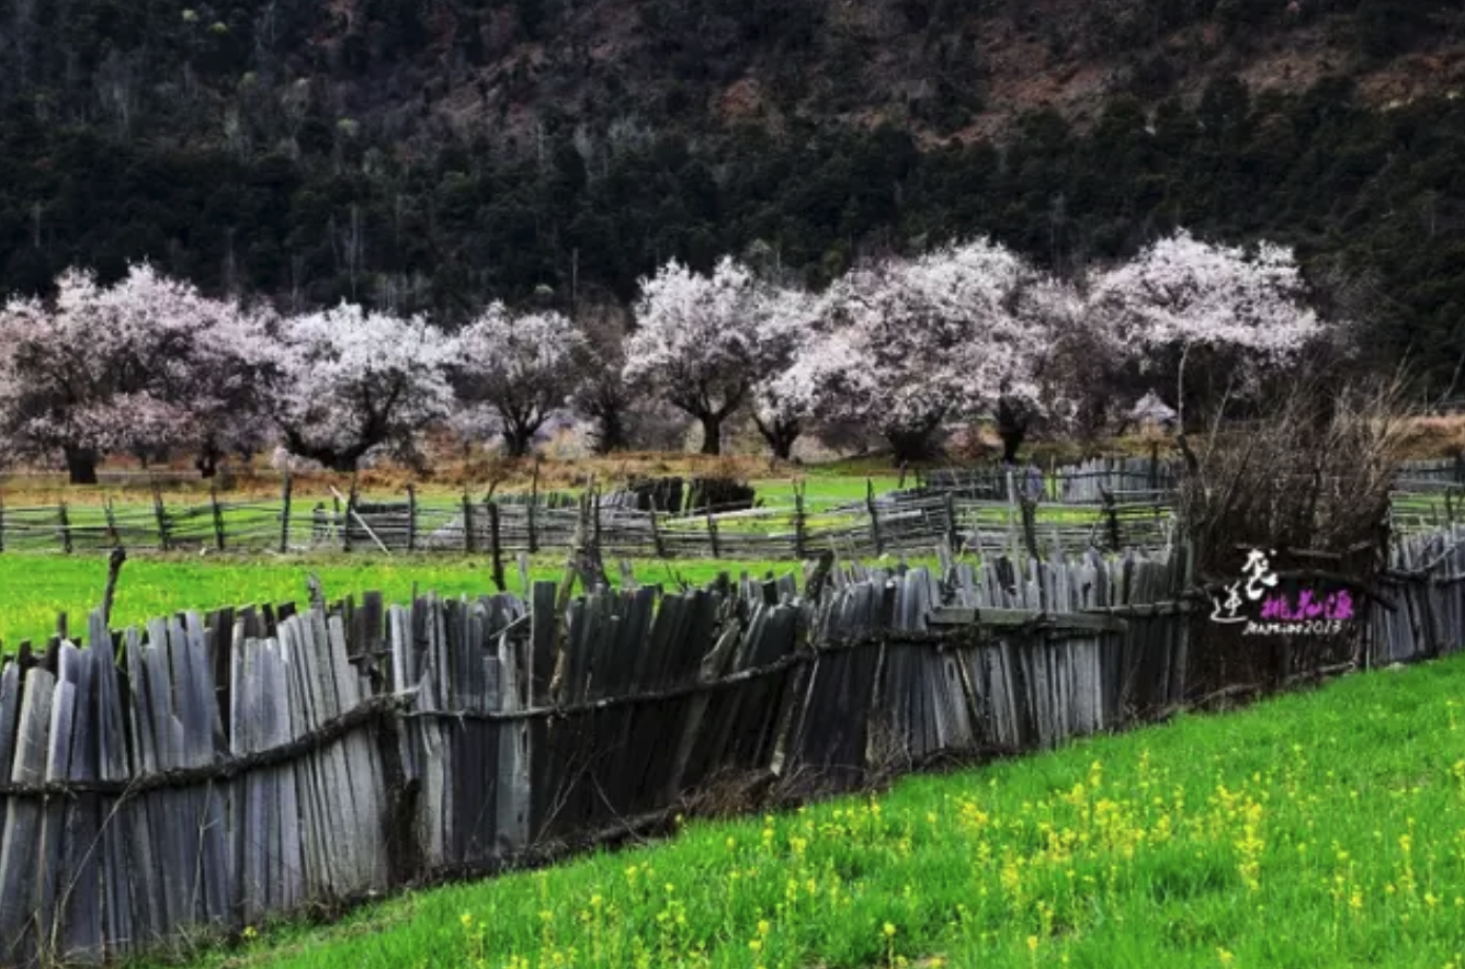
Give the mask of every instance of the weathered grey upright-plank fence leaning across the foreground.
<path id="1" fill-rule="evenodd" d="M 1393 610 L 1365 615 L 1348 663 L 1459 648 L 1462 549 L 1465 530 L 1403 540 Z M 943 556 L 563 612 L 539 583 L 527 602 L 366 594 L 122 632 L 94 616 L 88 648 L 0 669 L 0 962 L 95 963 L 494 871 L 728 779 L 847 789 L 1247 686 L 1195 662 L 1214 626 L 1187 562 Z"/>

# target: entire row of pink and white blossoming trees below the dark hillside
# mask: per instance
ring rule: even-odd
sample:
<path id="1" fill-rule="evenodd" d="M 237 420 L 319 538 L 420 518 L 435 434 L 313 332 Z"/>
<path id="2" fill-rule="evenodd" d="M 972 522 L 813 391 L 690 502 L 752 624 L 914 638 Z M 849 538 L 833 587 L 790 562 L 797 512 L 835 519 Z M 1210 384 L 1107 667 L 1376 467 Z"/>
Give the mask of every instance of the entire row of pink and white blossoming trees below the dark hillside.
<path id="1" fill-rule="evenodd" d="M 1305 296 L 1288 250 L 1184 233 L 1081 284 L 982 239 L 856 268 L 822 294 L 734 259 L 708 275 L 672 262 L 643 281 L 630 332 L 501 303 L 456 332 L 353 304 L 280 315 L 148 265 L 110 287 L 72 269 L 51 299 L 0 306 L 0 444 L 63 457 L 76 483 L 107 454 L 188 451 L 209 474 L 271 441 L 350 470 L 438 422 L 523 454 L 577 413 L 612 449 L 655 400 L 700 423 L 706 452 L 744 413 L 778 457 L 825 422 L 916 457 L 945 422 L 989 414 L 1012 457 L 1031 419 L 1077 419 L 1125 367 L 1160 366 L 1184 405 L 1187 364 L 1220 354 L 1235 389 L 1254 389 L 1323 334 Z"/>

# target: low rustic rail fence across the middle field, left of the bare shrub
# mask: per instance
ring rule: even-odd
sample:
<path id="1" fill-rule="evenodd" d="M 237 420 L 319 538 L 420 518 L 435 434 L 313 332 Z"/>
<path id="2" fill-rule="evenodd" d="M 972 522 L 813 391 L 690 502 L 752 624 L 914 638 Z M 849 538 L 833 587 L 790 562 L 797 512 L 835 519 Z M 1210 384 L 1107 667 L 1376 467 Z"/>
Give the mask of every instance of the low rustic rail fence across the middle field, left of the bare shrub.
<path id="1" fill-rule="evenodd" d="M 6 506 L 0 502 L 0 552 L 97 552 L 113 546 L 160 550 L 368 553 L 459 552 L 495 558 L 568 546 L 582 527 L 570 495 L 500 495 L 492 499 L 422 499 L 406 495 L 151 505 Z M 1043 550 L 1163 545 L 1169 506 L 982 501 L 952 492 L 895 492 L 834 508 L 793 505 L 671 515 L 595 495 L 585 525 L 605 555 L 618 558 L 719 558 L 793 561 L 834 550 L 850 558 L 952 547 L 1004 547 L 1014 536 Z"/>

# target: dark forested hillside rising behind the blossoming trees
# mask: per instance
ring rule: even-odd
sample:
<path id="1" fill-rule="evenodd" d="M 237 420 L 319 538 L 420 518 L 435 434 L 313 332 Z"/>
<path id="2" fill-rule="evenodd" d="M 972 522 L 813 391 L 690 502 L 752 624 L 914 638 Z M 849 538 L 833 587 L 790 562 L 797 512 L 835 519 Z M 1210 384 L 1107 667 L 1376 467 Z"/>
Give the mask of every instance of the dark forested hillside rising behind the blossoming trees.
<path id="1" fill-rule="evenodd" d="M 1185 225 L 1295 244 L 1437 385 L 1465 351 L 1461 0 L 12 0 L 0 67 L 6 291 L 146 256 L 453 321 Z"/>

